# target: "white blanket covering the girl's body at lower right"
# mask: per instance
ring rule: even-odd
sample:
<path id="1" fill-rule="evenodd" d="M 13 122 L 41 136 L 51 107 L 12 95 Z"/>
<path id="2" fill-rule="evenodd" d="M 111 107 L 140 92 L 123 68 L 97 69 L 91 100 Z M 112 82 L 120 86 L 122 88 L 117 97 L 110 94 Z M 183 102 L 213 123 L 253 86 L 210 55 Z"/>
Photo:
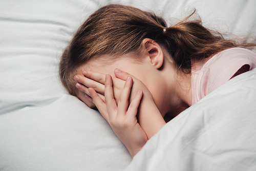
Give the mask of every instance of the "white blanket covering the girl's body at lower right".
<path id="1" fill-rule="evenodd" d="M 256 170 L 256 69 L 168 122 L 126 170 Z"/>

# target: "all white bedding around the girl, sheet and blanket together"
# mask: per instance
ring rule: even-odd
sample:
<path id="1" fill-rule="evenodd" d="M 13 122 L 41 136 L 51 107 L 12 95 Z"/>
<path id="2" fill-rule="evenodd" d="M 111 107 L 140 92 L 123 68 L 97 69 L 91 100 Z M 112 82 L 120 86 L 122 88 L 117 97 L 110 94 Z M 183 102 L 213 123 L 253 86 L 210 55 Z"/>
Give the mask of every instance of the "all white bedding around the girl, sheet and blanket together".
<path id="1" fill-rule="evenodd" d="M 172 22 L 196 8 L 205 26 L 256 36 L 254 0 L 2 1 L 0 170 L 123 170 L 130 164 L 104 118 L 67 95 L 57 74 L 75 30 L 113 3 Z M 127 170 L 255 170 L 255 73 L 233 78 L 166 124 Z"/>

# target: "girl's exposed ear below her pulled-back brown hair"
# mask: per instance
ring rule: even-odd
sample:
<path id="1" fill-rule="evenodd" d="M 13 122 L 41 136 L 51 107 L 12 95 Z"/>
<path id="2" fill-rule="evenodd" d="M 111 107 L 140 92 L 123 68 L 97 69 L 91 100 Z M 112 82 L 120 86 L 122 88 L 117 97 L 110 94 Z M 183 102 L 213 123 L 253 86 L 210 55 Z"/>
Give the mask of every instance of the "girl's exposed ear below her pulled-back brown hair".
<path id="1" fill-rule="evenodd" d="M 161 68 L 163 65 L 163 51 L 159 44 L 150 38 L 144 38 L 142 46 L 145 47 L 146 54 L 150 57 L 152 65 L 157 69 Z"/>

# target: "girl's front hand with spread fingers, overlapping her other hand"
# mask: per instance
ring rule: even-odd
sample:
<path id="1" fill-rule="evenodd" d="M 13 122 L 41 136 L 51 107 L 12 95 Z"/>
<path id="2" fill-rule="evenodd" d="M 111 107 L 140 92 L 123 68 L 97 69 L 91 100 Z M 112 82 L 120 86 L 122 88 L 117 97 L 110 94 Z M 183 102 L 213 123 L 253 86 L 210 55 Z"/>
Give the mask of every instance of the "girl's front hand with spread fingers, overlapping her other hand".
<path id="1" fill-rule="evenodd" d="M 142 98 L 139 90 L 129 105 L 129 97 L 133 84 L 132 77 L 127 77 L 121 91 L 118 105 L 113 92 L 113 81 L 110 75 L 105 76 L 105 102 L 92 88 L 88 89 L 90 96 L 101 115 L 109 122 L 118 138 L 124 143 L 130 154 L 134 156 L 147 141 L 147 136 L 139 125 L 136 115 Z"/>

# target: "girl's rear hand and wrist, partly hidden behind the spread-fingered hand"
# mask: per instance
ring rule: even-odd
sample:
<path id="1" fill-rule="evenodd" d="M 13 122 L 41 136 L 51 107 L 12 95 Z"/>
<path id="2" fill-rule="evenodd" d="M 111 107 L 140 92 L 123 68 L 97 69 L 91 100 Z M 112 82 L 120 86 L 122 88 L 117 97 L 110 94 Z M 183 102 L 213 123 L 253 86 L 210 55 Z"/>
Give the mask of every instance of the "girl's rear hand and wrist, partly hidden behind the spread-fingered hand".
<path id="1" fill-rule="evenodd" d="M 96 73 L 92 71 L 83 72 L 83 75 L 86 76 L 79 76 L 79 82 L 81 85 L 80 90 L 89 96 L 86 96 L 89 100 L 93 101 L 90 97 L 90 93 L 88 92 L 87 87 L 92 87 L 98 93 L 98 96 L 105 102 L 104 97 L 104 81 L 105 81 L 105 74 Z M 122 72 L 119 69 L 115 70 L 115 75 L 117 78 L 113 77 L 113 90 L 114 90 L 114 97 L 116 102 L 118 102 L 121 90 L 122 90 L 122 82 L 126 80 L 127 76 L 131 76 L 133 78 L 133 88 L 130 95 L 130 101 L 135 97 L 135 94 L 138 90 L 143 91 L 143 97 L 141 99 L 141 104 L 139 106 L 138 112 L 138 122 L 141 125 L 142 129 L 145 131 L 148 139 L 150 139 L 153 135 L 155 135 L 161 127 L 165 124 L 165 121 L 159 112 L 153 97 L 145 87 L 145 85 L 134 76 L 130 75 L 129 73 Z M 116 89 L 115 89 L 116 88 Z"/>

